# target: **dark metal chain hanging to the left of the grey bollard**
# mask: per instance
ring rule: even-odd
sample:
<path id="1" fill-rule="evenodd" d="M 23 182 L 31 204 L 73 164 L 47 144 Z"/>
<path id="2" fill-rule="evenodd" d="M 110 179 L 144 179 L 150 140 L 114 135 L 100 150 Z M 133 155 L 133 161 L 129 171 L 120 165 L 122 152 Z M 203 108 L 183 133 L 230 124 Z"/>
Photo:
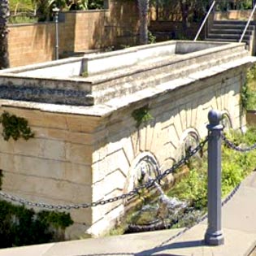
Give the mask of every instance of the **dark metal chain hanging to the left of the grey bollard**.
<path id="1" fill-rule="evenodd" d="M 190 150 L 184 158 L 180 159 L 179 162 L 175 163 L 170 169 L 167 169 L 163 173 L 156 176 L 154 179 L 147 181 L 145 184 L 141 184 L 140 186 L 138 186 L 135 189 L 132 189 L 128 193 L 123 193 L 117 197 L 111 197 L 106 200 L 100 200 L 97 202 L 88 202 L 88 203 L 85 202 L 85 203 L 81 203 L 81 204 L 52 205 L 52 204 L 47 204 L 44 202 L 28 201 L 28 200 L 25 200 L 24 198 L 16 197 L 9 193 L 5 193 L 3 191 L 0 191 L 0 197 L 3 197 L 5 199 L 7 199 L 8 201 L 18 202 L 20 204 L 27 205 L 27 206 L 35 206 L 35 207 L 54 209 L 54 210 L 71 210 L 71 209 L 81 209 L 81 208 L 85 209 L 85 208 L 94 207 L 94 206 L 100 206 L 100 205 L 102 206 L 102 205 L 105 205 L 106 203 L 116 202 L 116 201 L 119 201 L 119 200 L 122 200 L 122 199 L 125 199 L 128 197 L 133 197 L 133 196 L 139 194 L 141 189 L 150 189 L 151 187 L 154 186 L 155 182 L 163 180 L 164 177 L 166 177 L 170 173 L 173 173 L 174 171 L 176 171 L 176 169 L 183 166 L 184 163 L 187 163 L 189 161 L 189 158 L 191 158 L 191 157 L 193 157 L 193 155 L 197 154 L 197 152 L 199 150 L 202 150 L 204 145 L 206 145 L 207 141 L 208 141 L 208 137 L 206 137 L 206 139 L 204 141 L 200 142 L 196 148 L 194 148 L 193 150 Z"/>

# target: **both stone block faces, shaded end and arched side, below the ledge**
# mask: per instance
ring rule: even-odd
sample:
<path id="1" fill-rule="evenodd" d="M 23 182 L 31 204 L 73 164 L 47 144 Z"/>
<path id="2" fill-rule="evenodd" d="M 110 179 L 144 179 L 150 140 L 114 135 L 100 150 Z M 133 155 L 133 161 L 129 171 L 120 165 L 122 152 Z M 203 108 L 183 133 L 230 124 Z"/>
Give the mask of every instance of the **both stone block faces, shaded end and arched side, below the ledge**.
<path id="1" fill-rule="evenodd" d="M 40 103 L 20 108 L 2 101 L 1 111 L 28 119 L 36 134 L 29 141 L 1 137 L 2 189 L 56 204 L 95 202 L 128 192 L 139 175 L 134 167 L 140 161 L 147 164 L 153 159 L 158 170 L 165 171 L 180 157 L 186 137 L 206 136 L 211 108 L 226 111 L 233 128 L 244 126 L 243 80 L 243 74 L 227 72 L 147 98 L 107 117 L 53 113 L 44 111 Z M 145 105 L 154 119 L 137 129 L 132 111 Z M 124 213 L 123 203 L 72 210 L 76 224 L 67 236 L 102 235 Z"/>

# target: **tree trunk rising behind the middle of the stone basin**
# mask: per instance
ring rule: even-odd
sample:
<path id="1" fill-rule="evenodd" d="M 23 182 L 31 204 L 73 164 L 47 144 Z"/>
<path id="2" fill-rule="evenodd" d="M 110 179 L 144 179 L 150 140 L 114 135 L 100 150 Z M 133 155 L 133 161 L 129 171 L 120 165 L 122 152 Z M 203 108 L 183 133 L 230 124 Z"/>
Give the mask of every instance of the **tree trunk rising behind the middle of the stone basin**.
<path id="1" fill-rule="evenodd" d="M 140 44 L 148 43 L 148 11 L 149 0 L 137 0 L 140 12 Z"/>

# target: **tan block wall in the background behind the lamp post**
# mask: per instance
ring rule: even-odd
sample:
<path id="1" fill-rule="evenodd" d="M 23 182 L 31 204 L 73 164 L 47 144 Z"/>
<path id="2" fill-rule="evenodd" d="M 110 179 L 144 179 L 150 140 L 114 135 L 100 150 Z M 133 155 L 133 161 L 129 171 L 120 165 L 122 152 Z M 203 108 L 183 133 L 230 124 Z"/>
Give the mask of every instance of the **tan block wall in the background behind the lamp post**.
<path id="1" fill-rule="evenodd" d="M 136 45 L 138 19 L 137 4 L 125 1 L 110 1 L 106 10 L 60 13 L 59 54 Z M 54 59 L 54 22 L 14 24 L 9 30 L 11 67 Z"/>

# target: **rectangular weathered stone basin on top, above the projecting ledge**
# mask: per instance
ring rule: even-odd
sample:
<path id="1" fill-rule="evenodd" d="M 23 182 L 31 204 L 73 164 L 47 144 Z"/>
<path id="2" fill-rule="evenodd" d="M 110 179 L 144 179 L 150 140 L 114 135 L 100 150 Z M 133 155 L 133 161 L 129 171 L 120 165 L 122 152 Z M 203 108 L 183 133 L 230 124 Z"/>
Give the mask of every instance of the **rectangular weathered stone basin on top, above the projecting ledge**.
<path id="1" fill-rule="evenodd" d="M 248 55 L 243 43 L 166 41 L 0 72 L 0 98 L 93 106 Z"/>

